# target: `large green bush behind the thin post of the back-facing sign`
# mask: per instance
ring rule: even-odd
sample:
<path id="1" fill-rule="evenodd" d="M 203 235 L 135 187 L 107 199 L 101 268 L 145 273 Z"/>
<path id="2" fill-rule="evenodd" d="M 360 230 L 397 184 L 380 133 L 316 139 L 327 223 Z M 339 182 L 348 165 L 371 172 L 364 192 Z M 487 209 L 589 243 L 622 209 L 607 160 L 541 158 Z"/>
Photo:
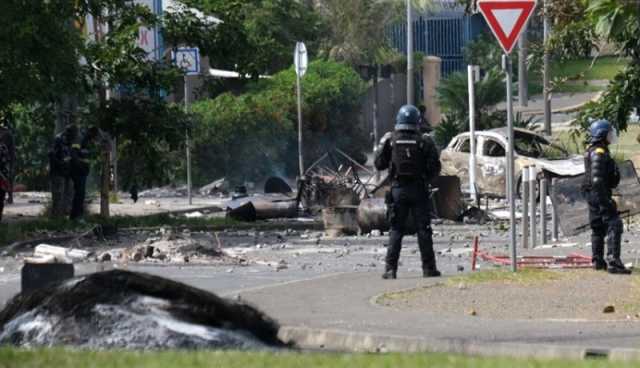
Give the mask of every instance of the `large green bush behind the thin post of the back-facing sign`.
<path id="1" fill-rule="evenodd" d="M 293 69 L 193 105 L 196 181 L 226 176 L 238 182 L 270 174 L 297 174 L 297 108 Z M 365 86 L 349 67 L 315 61 L 303 79 L 304 158 L 333 147 L 364 159 L 367 138 L 358 123 Z"/>

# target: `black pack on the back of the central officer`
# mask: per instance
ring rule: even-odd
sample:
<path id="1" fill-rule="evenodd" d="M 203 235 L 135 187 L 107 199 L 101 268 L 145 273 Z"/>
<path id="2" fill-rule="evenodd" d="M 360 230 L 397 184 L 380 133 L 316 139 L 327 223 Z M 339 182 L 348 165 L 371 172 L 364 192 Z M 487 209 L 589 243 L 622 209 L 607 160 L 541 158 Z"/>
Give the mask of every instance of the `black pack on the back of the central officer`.
<path id="1" fill-rule="evenodd" d="M 391 162 L 396 178 L 420 178 L 424 174 L 424 140 L 413 131 L 396 131 L 391 140 Z"/>

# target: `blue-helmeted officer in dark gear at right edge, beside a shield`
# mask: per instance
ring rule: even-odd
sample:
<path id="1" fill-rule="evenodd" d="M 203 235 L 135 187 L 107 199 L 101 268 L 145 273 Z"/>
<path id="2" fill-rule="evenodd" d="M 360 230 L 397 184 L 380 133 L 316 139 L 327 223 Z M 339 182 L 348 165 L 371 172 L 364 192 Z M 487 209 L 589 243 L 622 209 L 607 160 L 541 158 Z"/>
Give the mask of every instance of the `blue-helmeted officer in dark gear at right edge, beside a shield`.
<path id="1" fill-rule="evenodd" d="M 620 172 L 609 153 L 609 144 L 616 143 L 617 133 L 611 123 L 598 120 L 591 124 L 591 145 L 584 155 L 585 181 L 583 190 L 589 202 L 593 267 L 613 274 L 630 274 L 620 260 L 622 220 L 611 190 L 620 182 Z M 604 240 L 607 258 L 604 259 Z"/>

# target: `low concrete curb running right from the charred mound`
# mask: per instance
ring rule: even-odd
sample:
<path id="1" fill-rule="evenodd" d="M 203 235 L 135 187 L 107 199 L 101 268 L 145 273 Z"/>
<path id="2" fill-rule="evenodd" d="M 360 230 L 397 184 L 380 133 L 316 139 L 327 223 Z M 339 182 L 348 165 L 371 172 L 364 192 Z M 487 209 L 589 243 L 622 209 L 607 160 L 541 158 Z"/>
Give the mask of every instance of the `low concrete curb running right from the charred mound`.
<path id="1" fill-rule="evenodd" d="M 474 342 L 462 339 L 424 339 L 366 332 L 283 326 L 278 337 L 297 347 L 353 353 L 450 353 L 484 357 L 537 359 L 640 360 L 640 349 L 600 349 L 580 346 Z"/>

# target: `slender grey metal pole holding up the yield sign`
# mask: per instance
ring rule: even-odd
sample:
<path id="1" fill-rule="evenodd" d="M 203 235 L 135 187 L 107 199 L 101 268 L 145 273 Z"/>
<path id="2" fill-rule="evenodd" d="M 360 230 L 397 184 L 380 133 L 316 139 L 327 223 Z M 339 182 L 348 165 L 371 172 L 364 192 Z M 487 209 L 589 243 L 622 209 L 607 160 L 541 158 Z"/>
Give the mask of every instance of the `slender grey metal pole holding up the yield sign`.
<path id="1" fill-rule="evenodd" d="M 515 172 L 514 157 L 514 136 L 513 136 L 513 91 L 511 86 L 511 59 L 508 55 L 503 56 L 503 66 L 507 75 L 507 127 L 509 129 L 508 165 L 507 165 L 507 189 L 509 197 L 509 222 L 511 228 L 511 270 L 516 272 L 517 249 L 516 249 L 516 201 L 514 195 L 513 174 Z"/>

